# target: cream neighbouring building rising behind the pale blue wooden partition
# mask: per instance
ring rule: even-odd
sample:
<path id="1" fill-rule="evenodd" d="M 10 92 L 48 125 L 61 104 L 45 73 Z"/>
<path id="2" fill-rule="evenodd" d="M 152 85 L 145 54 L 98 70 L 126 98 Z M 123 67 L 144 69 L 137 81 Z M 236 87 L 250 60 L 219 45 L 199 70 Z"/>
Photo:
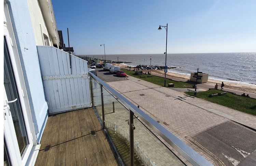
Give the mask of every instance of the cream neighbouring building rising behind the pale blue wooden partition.
<path id="1" fill-rule="evenodd" d="M 59 48 L 60 40 L 51 0 L 28 0 L 35 42 L 40 46 Z"/>

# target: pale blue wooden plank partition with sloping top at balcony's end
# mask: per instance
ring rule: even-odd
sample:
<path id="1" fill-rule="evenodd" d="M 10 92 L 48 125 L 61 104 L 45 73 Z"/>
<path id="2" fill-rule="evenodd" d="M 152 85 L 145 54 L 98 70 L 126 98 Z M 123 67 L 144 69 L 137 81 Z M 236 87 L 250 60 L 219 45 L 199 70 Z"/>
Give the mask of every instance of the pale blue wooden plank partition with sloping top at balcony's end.
<path id="1" fill-rule="evenodd" d="M 52 46 L 37 46 L 49 114 L 90 107 L 87 61 Z M 72 73 L 71 73 L 72 72 Z"/>

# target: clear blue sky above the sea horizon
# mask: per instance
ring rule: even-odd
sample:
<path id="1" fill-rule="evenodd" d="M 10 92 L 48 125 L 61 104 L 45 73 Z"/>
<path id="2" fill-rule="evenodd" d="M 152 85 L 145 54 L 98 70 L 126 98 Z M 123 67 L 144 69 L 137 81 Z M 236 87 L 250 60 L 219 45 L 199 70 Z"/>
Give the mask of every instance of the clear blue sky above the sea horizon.
<path id="1" fill-rule="evenodd" d="M 52 0 L 76 54 L 256 52 L 256 0 Z"/>

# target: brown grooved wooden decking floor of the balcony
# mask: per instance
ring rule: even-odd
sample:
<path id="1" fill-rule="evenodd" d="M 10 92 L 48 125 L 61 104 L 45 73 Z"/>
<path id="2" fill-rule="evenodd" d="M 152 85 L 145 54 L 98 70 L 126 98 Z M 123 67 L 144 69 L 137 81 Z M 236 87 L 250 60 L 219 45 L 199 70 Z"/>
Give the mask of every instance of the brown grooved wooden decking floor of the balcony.
<path id="1" fill-rule="evenodd" d="M 49 116 L 35 165 L 118 164 L 93 108 L 87 108 Z"/>

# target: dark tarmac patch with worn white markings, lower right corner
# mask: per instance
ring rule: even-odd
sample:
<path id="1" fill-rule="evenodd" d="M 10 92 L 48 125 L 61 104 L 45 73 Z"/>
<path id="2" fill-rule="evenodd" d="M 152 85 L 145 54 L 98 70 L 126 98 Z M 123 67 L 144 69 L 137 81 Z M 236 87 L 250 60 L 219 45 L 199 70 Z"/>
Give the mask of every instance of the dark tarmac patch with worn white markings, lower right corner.
<path id="1" fill-rule="evenodd" d="M 256 132 L 238 123 L 228 121 L 192 139 L 213 153 L 226 166 L 256 165 L 255 154 L 252 155 L 256 151 Z"/>

